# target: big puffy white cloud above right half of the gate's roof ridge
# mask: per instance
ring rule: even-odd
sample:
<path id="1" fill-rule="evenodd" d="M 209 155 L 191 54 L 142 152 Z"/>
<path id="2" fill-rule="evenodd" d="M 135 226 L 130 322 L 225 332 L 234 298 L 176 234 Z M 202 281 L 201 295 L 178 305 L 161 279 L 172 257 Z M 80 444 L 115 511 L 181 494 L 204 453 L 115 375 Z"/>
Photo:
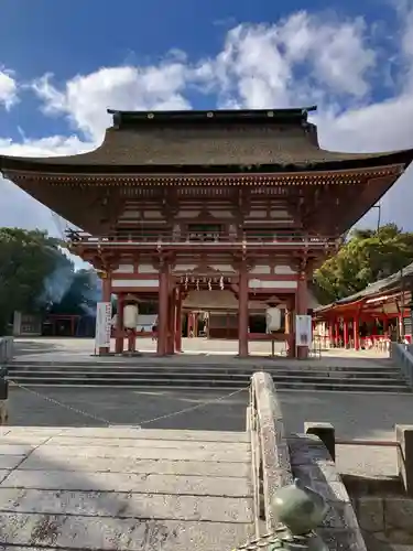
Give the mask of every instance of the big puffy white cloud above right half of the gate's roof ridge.
<path id="1" fill-rule="evenodd" d="M 273 25 L 232 29 L 224 51 L 198 67 L 215 79 L 224 105 L 307 105 L 325 97 L 362 98 L 376 53 L 361 19 L 338 21 L 302 11 Z"/>

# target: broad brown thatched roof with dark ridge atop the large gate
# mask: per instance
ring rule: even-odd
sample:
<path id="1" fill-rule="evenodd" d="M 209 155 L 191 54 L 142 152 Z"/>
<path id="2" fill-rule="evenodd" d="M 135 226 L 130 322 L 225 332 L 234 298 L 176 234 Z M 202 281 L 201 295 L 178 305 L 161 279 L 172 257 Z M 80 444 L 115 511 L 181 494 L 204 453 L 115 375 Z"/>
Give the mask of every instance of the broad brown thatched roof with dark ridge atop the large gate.
<path id="1" fill-rule="evenodd" d="M 96 150 L 67 156 L 0 155 L 0 170 L 44 174 L 236 174 L 367 170 L 413 160 L 384 153 L 322 150 L 315 107 L 274 110 L 115 111 Z"/>

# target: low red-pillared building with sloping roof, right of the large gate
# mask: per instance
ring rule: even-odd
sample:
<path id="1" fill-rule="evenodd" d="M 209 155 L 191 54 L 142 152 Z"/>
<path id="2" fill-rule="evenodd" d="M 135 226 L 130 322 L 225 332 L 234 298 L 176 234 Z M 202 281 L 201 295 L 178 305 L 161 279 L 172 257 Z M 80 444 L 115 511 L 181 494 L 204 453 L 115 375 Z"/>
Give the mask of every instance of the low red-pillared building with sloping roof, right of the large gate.
<path id="1" fill-rule="evenodd" d="M 370 348 L 412 339 L 413 263 L 346 299 L 314 312 L 317 333 L 330 347 Z"/>

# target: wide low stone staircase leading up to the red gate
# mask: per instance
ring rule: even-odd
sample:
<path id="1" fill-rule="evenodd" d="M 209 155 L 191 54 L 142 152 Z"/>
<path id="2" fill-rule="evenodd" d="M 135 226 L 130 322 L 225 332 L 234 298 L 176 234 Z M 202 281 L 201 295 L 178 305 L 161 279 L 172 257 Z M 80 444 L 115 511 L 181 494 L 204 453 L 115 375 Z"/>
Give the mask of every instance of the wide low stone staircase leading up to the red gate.
<path id="1" fill-rule="evenodd" d="M 137 357 L 48 363 L 21 357 L 8 366 L 8 378 L 37 387 L 231 390 L 247 387 L 257 370 L 271 374 L 279 391 L 411 392 L 400 368 L 388 359 L 340 365 L 335 358 L 306 363 L 285 358 L 203 361 L 200 357 Z"/>

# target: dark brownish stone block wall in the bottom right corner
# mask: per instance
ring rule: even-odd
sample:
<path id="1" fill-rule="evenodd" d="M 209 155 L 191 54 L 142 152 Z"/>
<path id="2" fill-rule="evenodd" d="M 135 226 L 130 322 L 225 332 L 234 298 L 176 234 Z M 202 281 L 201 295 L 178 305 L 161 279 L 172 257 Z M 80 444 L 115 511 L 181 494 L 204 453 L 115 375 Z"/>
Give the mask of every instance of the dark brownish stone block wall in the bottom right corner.
<path id="1" fill-rule="evenodd" d="M 369 549 L 413 550 L 413 499 L 357 496 L 352 503 Z"/>

